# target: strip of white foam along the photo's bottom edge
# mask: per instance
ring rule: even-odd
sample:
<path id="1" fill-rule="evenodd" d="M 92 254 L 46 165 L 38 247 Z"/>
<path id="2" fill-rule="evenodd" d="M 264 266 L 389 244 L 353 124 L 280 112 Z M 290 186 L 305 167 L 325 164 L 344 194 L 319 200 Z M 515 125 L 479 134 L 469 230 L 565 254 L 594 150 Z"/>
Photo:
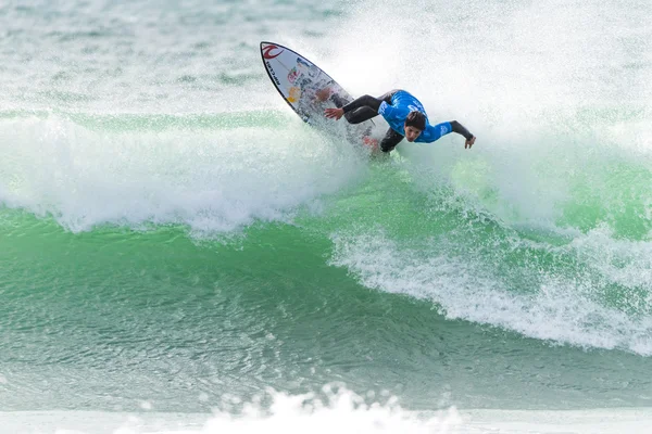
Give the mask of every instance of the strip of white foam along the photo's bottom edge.
<path id="1" fill-rule="evenodd" d="M 615 434 L 648 433 L 650 409 L 575 411 L 462 410 L 416 412 L 396 397 L 365 404 L 346 388 L 318 399 L 313 394 L 268 392 L 271 406 L 248 401 L 239 414 L 117 413 L 101 411 L 0 412 L 0 433 L 11 434 Z"/>

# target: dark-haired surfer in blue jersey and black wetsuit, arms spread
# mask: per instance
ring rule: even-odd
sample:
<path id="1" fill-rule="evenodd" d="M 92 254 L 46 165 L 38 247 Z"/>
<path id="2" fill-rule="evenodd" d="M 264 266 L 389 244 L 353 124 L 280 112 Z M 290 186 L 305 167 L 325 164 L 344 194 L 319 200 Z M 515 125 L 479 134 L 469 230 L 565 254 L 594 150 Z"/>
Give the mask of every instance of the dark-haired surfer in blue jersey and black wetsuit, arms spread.
<path id="1" fill-rule="evenodd" d="M 410 92 L 400 89 L 380 98 L 363 95 L 341 107 L 326 108 L 324 114 L 336 120 L 344 116 L 349 124 L 360 124 L 381 115 L 390 127 L 380 141 L 383 152 L 393 150 L 403 138 L 409 142 L 430 143 L 449 132 L 456 132 L 466 139 L 464 149 L 471 149 L 476 140 L 475 136 L 456 120 L 430 125 L 422 103 Z"/>

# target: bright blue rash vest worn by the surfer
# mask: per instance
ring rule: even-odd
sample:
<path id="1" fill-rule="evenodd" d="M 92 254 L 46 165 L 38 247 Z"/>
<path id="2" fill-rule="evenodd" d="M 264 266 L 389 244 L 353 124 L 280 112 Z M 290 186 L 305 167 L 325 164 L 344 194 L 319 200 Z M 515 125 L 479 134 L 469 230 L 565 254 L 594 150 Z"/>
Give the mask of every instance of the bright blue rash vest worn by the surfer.
<path id="1" fill-rule="evenodd" d="M 426 116 L 426 129 L 422 131 L 415 142 L 430 143 L 453 130 L 451 123 L 430 125 L 423 104 L 412 93 L 404 90 L 399 90 L 391 97 L 391 105 L 383 101 L 378 114 L 383 115 L 391 129 L 405 136 L 405 118 L 413 111 L 422 112 Z"/>

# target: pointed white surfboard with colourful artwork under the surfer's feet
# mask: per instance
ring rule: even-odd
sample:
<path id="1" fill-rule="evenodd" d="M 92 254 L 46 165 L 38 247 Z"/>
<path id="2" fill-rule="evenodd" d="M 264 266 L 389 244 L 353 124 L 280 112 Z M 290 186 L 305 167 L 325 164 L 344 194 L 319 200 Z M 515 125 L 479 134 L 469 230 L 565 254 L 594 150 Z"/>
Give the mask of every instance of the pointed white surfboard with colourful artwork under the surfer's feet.
<path id="1" fill-rule="evenodd" d="M 336 122 L 327 119 L 324 110 L 353 101 L 349 92 L 317 65 L 279 43 L 261 42 L 261 58 L 269 80 L 294 113 L 309 125 L 333 131 Z M 351 142 L 377 144 L 373 120 L 351 125 L 342 118 L 339 123 L 344 124 Z"/>

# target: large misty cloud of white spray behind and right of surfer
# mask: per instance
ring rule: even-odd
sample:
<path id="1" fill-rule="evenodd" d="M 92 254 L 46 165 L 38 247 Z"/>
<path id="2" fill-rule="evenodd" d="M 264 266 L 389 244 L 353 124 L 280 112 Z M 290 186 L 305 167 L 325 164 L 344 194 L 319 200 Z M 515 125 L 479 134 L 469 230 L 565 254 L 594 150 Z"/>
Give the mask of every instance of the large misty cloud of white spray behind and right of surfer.
<path id="1" fill-rule="evenodd" d="M 641 11 L 615 1 L 417 0 L 406 10 L 418 13 L 397 15 L 394 3 L 360 2 L 335 31 L 327 69 L 354 93 L 405 88 L 432 123 L 457 119 L 478 137 L 472 151 L 456 135 L 400 144 L 421 188 L 443 179 L 502 219 L 546 225 L 585 199 L 578 191 L 617 214 L 628 199 L 619 190 L 631 189 L 613 184 L 623 167 L 647 171 L 632 178 L 649 193 L 652 68 L 640 59 L 652 55 L 652 38 Z M 645 205 L 637 193 L 628 200 Z"/>

